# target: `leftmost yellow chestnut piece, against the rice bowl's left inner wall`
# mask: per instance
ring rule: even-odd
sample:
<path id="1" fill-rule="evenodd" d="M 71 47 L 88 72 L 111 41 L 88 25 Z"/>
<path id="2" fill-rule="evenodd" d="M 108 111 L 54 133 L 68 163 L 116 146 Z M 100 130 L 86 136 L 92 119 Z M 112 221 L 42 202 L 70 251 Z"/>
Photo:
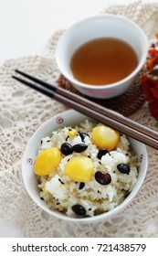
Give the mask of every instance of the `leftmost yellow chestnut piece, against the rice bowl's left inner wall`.
<path id="1" fill-rule="evenodd" d="M 47 148 L 37 155 L 34 172 L 37 176 L 47 176 L 56 170 L 60 161 L 61 155 L 58 148 Z"/>

